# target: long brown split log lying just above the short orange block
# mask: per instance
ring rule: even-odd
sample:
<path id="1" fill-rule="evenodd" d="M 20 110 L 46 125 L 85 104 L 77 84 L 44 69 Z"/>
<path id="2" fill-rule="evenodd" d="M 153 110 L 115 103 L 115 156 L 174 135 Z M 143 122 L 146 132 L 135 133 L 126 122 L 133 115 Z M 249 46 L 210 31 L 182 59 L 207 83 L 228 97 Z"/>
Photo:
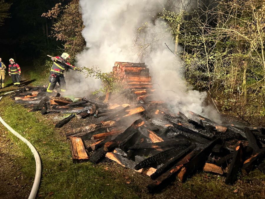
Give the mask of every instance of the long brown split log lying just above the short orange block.
<path id="1" fill-rule="evenodd" d="M 70 135 L 81 137 L 89 132 L 96 131 L 102 128 L 107 128 L 110 126 L 115 126 L 115 125 L 116 125 L 115 121 L 106 121 L 106 122 L 97 123 L 97 124 L 90 124 L 88 126 L 66 131 L 66 137 L 68 138 Z"/>

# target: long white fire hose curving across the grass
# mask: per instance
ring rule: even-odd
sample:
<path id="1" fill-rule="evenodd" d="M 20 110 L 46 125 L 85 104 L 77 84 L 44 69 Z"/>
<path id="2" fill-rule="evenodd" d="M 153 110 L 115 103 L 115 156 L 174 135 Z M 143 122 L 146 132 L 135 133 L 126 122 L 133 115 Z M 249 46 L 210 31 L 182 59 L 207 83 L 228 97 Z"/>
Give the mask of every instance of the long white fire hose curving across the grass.
<path id="1" fill-rule="evenodd" d="M 14 91 L 11 91 L 8 93 L 12 93 L 12 92 L 14 92 Z M 8 93 L 5 93 L 4 95 L 6 95 Z M 2 97 L 3 96 L 0 97 L 0 101 L 1 101 Z M 12 134 L 14 134 L 16 137 L 18 137 L 22 142 L 27 144 L 27 146 L 30 148 L 32 154 L 34 155 L 35 162 L 36 162 L 36 172 L 35 172 L 34 183 L 32 185 L 32 189 L 31 189 L 31 192 L 29 194 L 29 199 L 34 199 L 36 197 L 36 194 L 37 194 L 37 191 L 39 188 L 39 182 L 40 182 L 40 178 L 41 178 L 41 174 L 42 174 L 42 165 L 41 165 L 41 159 L 39 157 L 39 154 L 38 154 L 37 150 L 33 147 L 33 145 L 27 139 L 22 137 L 18 132 L 16 132 L 14 129 L 12 129 L 8 124 L 6 124 L 6 122 L 1 118 L 1 116 L 0 116 L 0 121 Z"/>

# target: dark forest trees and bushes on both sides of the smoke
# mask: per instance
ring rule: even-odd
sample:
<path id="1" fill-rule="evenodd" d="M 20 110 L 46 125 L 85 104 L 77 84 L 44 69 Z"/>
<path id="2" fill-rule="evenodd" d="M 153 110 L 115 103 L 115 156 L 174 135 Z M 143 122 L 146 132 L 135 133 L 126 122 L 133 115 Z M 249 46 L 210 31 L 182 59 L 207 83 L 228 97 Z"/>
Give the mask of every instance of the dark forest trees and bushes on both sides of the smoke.
<path id="1" fill-rule="evenodd" d="M 86 48 L 78 0 L 0 4 L 2 59 L 12 55 L 46 75 L 51 66 L 47 54 L 68 52 L 73 62 Z M 265 122 L 264 17 L 263 0 L 168 0 L 154 16 L 165 20 L 165 34 L 173 34 L 175 49 L 169 50 L 180 57 L 183 78 L 193 89 L 207 91 L 224 114 L 259 125 Z M 135 38 L 143 37 L 148 24 L 152 22 L 135 27 Z M 139 55 L 150 45 L 135 40 Z"/>

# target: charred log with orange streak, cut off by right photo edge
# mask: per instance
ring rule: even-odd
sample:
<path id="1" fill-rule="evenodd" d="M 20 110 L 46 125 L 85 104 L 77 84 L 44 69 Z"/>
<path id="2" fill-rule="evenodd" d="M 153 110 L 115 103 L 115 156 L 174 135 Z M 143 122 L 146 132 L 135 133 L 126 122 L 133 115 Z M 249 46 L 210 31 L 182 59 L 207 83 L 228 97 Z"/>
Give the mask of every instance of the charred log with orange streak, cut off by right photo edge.
<path id="1" fill-rule="evenodd" d="M 265 147 L 262 148 L 259 153 L 256 153 L 252 157 L 247 159 L 244 162 L 241 171 L 244 173 L 249 173 L 251 170 L 253 170 L 255 165 L 261 163 L 264 160 L 264 158 L 265 158 Z"/>

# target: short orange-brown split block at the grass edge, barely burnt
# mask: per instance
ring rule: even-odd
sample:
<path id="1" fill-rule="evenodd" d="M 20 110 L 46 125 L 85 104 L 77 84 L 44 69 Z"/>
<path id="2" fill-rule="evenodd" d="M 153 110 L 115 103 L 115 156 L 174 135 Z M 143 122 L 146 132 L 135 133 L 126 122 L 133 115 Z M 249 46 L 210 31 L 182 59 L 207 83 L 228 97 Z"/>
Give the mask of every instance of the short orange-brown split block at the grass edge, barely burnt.
<path id="1" fill-rule="evenodd" d="M 73 136 L 70 136 L 69 138 L 73 162 L 87 161 L 89 158 L 87 156 L 87 152 L 85 151 L 82 139 Z"/>

